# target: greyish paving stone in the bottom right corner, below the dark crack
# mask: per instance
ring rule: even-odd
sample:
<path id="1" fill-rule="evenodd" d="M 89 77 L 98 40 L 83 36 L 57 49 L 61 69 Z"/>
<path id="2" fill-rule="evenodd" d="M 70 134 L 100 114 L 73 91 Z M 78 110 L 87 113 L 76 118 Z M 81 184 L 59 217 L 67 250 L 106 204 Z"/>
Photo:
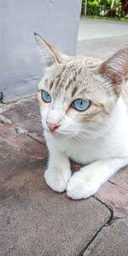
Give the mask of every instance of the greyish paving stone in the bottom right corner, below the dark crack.
<path id="1" fill-rule="evenodd" d="M 127 256 L 128 218 L 117 219 L 103 227 L 83 256 Z"/>

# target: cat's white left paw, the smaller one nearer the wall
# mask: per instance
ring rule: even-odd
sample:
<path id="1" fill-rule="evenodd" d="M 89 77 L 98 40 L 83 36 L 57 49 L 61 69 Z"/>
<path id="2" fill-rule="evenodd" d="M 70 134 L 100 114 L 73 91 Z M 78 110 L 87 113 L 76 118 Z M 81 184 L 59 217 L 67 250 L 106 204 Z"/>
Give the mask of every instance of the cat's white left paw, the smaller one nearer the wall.
<path id="1" fill-rule="evenodd" d="M 46 170 L 44 178 L 48 186 L 56 192 L 63 192 L 67 189 L 67 183 L 71 177 L 71 171 L 56 172 L 54 170 Z"/>

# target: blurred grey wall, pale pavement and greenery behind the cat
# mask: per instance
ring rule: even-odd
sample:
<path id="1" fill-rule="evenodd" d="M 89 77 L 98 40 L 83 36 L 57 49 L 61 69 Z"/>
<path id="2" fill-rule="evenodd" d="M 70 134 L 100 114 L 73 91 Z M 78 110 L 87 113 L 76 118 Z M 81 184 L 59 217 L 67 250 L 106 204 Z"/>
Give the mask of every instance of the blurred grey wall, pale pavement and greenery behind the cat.
<path id="1" fill-rule="evenodd" d="M 0 101 L 32 95 L 44 73 L 34 32 L 67 55 L 128 44 L 128 0 L 0 0 Z"/>

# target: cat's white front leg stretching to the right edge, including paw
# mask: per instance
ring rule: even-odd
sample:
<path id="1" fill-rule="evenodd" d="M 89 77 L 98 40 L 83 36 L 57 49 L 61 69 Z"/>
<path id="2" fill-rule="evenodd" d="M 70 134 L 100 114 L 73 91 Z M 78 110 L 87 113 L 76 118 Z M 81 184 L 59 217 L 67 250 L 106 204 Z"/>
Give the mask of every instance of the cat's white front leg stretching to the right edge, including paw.
<path id="1" fill-rule="evenodd" d="M 128 164 L 128 157 L 97 160 L 84 166 L 67 183 L 67 195 L 75 200 L 94 195 L 121 167 Z"/>

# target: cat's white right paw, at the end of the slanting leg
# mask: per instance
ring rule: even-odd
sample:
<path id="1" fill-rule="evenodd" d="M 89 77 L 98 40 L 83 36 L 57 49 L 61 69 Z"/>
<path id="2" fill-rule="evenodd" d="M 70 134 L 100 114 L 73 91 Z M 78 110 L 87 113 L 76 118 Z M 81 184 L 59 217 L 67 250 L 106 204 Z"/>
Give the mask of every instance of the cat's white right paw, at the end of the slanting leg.
<path id="1" fill-rule="evenodd" d="M 74 200 L 88 198 L 94 195 L 99 186 L 90 177 L 89 173 L 76 172 L 67 183 L 67 196 Z"/>

